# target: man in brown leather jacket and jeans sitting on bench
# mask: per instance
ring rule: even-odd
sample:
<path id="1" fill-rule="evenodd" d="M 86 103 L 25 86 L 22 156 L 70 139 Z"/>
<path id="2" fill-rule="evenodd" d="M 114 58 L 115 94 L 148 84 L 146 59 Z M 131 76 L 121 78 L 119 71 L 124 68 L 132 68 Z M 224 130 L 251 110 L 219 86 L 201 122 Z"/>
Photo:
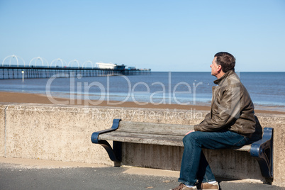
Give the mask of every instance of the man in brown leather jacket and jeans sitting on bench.
<path id="1" fill-rule="evenodd" d="M 211 74 L 217 79 L 213 86 L 211 112 L 194 130 L 186 133 L 181 161 L 181 184 L 175 188 L 219 189 L 202 148 L 223 149 L 246 145 L 255 132 L 254 106 L 250 95 L 235 74 L 235 57 L 218 52 L 211 64 Z"/>

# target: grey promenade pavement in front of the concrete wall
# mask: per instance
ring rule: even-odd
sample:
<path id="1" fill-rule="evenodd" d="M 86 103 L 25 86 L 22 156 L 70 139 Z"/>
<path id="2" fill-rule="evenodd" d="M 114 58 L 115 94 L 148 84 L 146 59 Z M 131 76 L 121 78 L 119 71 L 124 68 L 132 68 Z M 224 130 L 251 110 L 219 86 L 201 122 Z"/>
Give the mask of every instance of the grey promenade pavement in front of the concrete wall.
<path id="1" fill-rule="evenodd" d="M 74 162 L 0 158 L 0 189 L 172 189 L 179 172 Z M 221 189 L 285 189 L 260 181 L 219 180 Z"/>

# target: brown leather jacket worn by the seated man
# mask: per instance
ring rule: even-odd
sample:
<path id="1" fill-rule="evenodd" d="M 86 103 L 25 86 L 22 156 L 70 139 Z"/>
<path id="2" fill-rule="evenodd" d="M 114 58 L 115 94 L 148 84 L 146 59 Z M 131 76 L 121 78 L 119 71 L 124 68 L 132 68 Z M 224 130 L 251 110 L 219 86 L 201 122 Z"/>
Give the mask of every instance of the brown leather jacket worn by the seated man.
<path id="1" fill-rule="evenodd" d="M 214 81 L 211 112 L 194 126 L 195 131 L 213 132 L 227 129 L 250 137 L 255 132 L 255 111 L 250 94 L 233 71 Z"/>

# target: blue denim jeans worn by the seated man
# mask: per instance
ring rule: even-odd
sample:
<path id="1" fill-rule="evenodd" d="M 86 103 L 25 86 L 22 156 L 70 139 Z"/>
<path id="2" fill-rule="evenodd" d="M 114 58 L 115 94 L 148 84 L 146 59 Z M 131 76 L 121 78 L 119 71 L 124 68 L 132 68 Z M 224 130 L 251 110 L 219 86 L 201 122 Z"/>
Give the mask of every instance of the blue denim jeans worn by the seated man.
<path id="1" fill-rule="evenodd" d="M 184 152 L 181 161 L 179 182 L 186 185 L 194 185 L 199 180 L 203 183 L 215 181 L 211 168 L 203 154 L 202 148 L 223 149 L 246 145 L 249 138 L 231 132 L 230 130 L 219 132 L 195 131 L 186 135 L 183 139 Z"/>

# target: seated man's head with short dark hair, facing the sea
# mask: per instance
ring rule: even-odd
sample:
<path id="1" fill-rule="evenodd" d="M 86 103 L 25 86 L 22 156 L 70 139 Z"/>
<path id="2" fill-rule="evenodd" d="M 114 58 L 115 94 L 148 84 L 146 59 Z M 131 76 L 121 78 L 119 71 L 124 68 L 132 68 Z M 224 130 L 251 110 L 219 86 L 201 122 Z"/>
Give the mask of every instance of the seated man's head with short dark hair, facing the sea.
<path id="1" fill-rule="evenodd" d="M 235 57 L 228 52 L 218 52 L 214 56 L 211 74 L 218 79 L 228 72 L 229 70 L 235 70 Z"/>

